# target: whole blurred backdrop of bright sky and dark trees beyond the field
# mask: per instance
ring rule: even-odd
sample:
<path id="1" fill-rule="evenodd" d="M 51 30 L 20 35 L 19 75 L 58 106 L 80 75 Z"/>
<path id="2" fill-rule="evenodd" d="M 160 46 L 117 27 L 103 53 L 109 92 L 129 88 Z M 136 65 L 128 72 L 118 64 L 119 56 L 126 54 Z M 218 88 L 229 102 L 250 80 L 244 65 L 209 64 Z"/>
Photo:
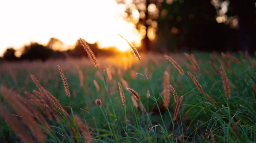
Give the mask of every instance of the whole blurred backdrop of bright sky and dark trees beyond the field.
<path id="1" fill-rule="evenodd" d="M 1 60 L 256 49 L 255 0 L 2 0 Z"/>

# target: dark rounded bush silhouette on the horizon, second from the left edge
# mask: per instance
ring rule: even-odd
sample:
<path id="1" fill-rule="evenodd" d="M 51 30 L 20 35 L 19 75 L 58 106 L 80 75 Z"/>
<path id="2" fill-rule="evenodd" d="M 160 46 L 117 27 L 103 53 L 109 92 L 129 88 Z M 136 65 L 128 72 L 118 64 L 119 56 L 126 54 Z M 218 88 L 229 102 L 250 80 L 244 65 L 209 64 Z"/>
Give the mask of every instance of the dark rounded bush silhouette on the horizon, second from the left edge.
<path id="1" fill-rule="evenodd" d="M 21 59 L 28 59 L 30 61 L 41 59 L 45 61 L 52 56 L 54 51 L 36 42 L 31 42 L 30 45 L 25 45 L 23 47 L 22 53 L 23 54 L 20 57 Z"/>

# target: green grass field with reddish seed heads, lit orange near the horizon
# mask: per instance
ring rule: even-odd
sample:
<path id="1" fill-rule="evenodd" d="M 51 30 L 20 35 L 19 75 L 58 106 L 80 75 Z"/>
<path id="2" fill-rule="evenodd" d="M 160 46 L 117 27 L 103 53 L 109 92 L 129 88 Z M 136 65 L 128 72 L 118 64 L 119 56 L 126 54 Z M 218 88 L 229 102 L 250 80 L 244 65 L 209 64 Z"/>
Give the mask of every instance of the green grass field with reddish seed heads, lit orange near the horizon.
<path id="1" fill-rule="evenodd" d="M 192 62 L 183 53 L 168 56 L 185 75 L 156 53 L 141 54 L 142 64 L 133 55 L 97 57 L 99 68 L 89 59 L 3 63 L 0 143 L 256 143 L 255 55 L 193 53 L 188 56 Z M 139 101 L 132 101 L 122 80 L 140 95 Z M 102 106 L 96 105 L 98 98 Z"/>

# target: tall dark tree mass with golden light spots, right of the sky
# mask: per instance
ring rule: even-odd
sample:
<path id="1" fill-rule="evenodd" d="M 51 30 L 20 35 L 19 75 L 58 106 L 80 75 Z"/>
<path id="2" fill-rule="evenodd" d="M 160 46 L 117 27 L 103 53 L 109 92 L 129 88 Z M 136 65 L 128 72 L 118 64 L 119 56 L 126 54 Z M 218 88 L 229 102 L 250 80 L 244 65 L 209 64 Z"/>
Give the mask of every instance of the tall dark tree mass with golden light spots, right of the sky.
<path id="1" fill-rule="evenodd" d="M 240 48 L 255 47 L 255 0 L 116 1 L 126 5 L 125 19 L 137 25 L 147 50 L 238 50 L 239 40 Z"/>

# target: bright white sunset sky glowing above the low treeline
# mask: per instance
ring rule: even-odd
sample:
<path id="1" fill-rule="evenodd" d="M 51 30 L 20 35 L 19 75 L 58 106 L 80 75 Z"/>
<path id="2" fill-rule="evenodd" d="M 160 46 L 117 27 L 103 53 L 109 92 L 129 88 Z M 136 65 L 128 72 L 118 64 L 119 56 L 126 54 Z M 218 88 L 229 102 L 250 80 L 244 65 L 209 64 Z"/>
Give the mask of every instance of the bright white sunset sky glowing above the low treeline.
<path id="1" fill-rule="evenodd" d="M 65 46 L 81 37 L 101 47 L 125 49 L 117 36 L 121 34 L 140 45 L 141 34 L 123 20 L 124 11 L 115 0 L 0 0 L 0 56 L 7 47 L 19 49 L 30 41 L 46 44 L 50 37 Z"/>

